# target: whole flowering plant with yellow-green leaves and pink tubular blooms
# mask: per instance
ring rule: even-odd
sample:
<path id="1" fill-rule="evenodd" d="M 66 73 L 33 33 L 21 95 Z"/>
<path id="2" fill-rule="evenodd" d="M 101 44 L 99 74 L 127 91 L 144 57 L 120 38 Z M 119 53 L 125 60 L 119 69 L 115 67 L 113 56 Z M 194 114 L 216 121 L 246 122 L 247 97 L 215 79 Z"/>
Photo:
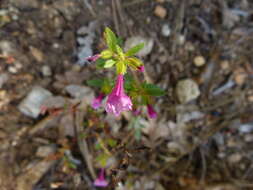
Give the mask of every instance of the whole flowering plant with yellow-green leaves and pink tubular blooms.
<path id="1" fill-rule="evenodd" d="M 101 93 L 93 100 L 92 107 L 98 109 L 102 105 L 103 99 L 107 96 L 105 110 L 107 113 L 119 116 L 123 111 L 133 111 L 134 115 L 140 114 L 140 105 L 146 105 L 147 113 L 150 118 L 156 118 L 157 113 L 152 107 L 151 96 L 160 96 L 164 92 L 159 87 L 148 84 L 146 82 L 140 83 L 133 79 L 126 79 L 127 69 L 144 72 L 144 64 L 140 59 L 134 55 L 140 51 L 144 44 L 138 44 L 132 47 L 127 52 L 123 52 L 120 47 L 119 39 L 109 29 L 105 29 L 105 41 L 108 49 L 103 50 L 100 54 L 96 54 L 87 58 L 90 62 L 97 62 L 98 68 L 116 67 L 116 82 L 108 79 L 90 81 L 90 85 L 100 87 Z"/>

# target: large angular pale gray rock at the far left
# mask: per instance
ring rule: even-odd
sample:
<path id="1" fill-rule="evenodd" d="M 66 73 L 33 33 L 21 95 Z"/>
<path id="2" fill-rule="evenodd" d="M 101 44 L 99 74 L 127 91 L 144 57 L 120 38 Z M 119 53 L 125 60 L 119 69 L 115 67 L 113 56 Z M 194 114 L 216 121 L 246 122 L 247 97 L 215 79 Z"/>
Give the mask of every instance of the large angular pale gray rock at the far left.
<path id="1" fill-rule="evenodd" d="M 52 93 L 48 90 L 35 86 L 26 98 L 19 104 L 18 109 L 29 117 L 37 118 L 40 114 L 43 102 L 51 96 Z"/>

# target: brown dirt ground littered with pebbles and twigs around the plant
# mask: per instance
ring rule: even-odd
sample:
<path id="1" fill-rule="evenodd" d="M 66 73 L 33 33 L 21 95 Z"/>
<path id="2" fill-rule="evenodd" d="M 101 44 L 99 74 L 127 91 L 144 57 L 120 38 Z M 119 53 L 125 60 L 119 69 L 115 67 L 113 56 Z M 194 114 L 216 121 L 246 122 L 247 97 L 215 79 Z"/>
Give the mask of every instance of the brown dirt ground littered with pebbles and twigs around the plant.
<path id="1" fill-rule="evenodd" d="M 141 129 L 89 106 L 87 80 L 112 76 L 84 61 L 106 26 L 153 43 L 145 79 L 166 95 Z M 104 155 L 105 189 L 253 189 L 252 1 L 2 0 L 0 34 L 0 190 L 98 189 Z M 182 102 L 186 79 L 199 94 Z M 19 109 L 36 86 L 77 105 L 70 85 L 89 91 L 81 110 Z"/>

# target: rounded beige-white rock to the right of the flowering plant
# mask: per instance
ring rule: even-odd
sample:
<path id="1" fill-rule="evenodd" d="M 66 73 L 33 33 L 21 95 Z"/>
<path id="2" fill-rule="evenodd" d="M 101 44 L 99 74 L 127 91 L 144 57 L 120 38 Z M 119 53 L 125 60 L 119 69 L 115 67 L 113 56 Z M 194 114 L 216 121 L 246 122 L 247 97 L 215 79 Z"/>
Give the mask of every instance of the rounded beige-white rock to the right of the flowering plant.
<path id="1" fill-rule="evenodd" d="M 176 93 L 181 103 L 187 103 L 200 95 L 198 84 L 192 79 L 184 79 L 177 83 Z"/>

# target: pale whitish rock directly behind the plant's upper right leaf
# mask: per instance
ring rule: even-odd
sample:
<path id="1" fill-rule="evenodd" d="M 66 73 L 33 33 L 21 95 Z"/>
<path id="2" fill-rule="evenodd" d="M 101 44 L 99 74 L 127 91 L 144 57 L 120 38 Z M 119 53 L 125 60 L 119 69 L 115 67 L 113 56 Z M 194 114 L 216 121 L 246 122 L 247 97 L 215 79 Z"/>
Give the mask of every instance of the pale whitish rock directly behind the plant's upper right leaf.
<path id="1" fill-rule="evenodd" d="M 152 38 L 144 38 L 142 36 L 134 36 L 134 37 L 128 38 L 126 40 L 124 49 L 125 49 L 125 51 L 127 51 L 128 49 L 130 49 L 140 43 L 144 43 L 145 46 L 136 55 L 138 55 L 140 57 L 144 57 L 144 56 L 150 54 L 153 49 L 153 46 L 154 46 L 154 40 Z"/>

